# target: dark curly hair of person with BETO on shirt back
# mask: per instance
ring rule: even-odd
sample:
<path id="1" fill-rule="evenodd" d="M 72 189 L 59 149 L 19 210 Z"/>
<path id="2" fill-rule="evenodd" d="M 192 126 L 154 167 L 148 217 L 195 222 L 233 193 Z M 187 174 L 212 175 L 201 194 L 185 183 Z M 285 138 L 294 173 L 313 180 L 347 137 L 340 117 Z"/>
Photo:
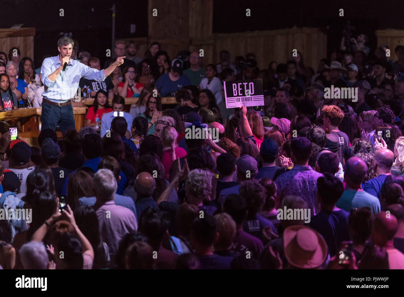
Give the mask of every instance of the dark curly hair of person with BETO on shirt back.
<path id="1" fill-rule="evenodd" d="M 240 197 L 244 198 L 247 202 L 248 217 L 255 217 L 255 215 L 262 209 L 266 191 L 265 187 L 255 179 L 243 181 L 240 184 Z"/>

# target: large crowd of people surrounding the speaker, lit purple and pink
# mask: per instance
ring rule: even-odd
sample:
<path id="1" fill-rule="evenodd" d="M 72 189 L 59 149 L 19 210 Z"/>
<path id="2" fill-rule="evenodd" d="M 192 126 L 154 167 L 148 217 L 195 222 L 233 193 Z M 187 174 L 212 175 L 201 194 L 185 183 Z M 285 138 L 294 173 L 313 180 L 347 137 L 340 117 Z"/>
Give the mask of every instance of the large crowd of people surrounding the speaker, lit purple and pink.
<path id="1" fill-rule="evenodd" d="M 95 98 L 84 128 L 42 129 L 39 148 L 2 131 L 1 268 L 404 269 L 404 46 L 390 61 L 366 42 L 342 41 L 315 72 L 299 52 L 259 69 L 223 50 L 203 67 L 199 52 L 171 61 L 153 42 L 141 59 L 117 40 L 104 68 L 122 65 L 80 80 Z M 2 108 L 40 106 L 40 68 L 13 49 Z M 265 105 L 227 109 L 223 82 L 249 79 Z M 357 100 L 325 98 L 331 86 Z M 126 97 L 139 100 L 124 111 Z M 198 128 L 218 139 L 186 136 Z"/>

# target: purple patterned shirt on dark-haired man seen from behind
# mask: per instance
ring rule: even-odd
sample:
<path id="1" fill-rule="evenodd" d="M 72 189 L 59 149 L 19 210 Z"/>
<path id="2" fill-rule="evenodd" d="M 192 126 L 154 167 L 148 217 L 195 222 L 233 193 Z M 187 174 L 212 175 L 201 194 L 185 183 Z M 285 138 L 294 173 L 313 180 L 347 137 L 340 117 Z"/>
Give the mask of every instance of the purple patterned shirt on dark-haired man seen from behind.
<path id="1" fill-rule="evenodd" d="M 317 179 L 323 176 L 310 166 L 296 165 L 291 171 L 282 173 L 275 180 L 278 197 L 282 201 L 288 195 L 296 195 L 306 201 L 311 215 L 320 211 L 317 198 Z"/>

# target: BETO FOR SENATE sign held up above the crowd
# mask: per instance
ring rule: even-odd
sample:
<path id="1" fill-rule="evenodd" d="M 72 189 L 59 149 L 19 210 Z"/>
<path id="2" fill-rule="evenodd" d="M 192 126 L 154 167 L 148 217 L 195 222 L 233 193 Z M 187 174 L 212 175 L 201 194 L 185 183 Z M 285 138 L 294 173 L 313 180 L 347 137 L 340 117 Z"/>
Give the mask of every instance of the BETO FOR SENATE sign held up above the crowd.
<path id="1" fill-rule="evenodd" d="M 262 80 L 224 82 L 226 108 L 264 105 Z"/>

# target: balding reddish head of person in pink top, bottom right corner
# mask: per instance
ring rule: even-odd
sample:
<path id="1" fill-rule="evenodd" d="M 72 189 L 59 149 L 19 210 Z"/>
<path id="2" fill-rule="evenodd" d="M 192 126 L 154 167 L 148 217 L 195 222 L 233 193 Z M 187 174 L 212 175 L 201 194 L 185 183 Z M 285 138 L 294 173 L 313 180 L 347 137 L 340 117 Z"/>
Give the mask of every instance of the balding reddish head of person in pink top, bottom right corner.
<path id="1" fill-rule="evenodd" d="M 381 211 L 372 223 L 372 241 L 378 246 L 385 246 L 396 235 L 398 221 L 391 213 Z"/>

